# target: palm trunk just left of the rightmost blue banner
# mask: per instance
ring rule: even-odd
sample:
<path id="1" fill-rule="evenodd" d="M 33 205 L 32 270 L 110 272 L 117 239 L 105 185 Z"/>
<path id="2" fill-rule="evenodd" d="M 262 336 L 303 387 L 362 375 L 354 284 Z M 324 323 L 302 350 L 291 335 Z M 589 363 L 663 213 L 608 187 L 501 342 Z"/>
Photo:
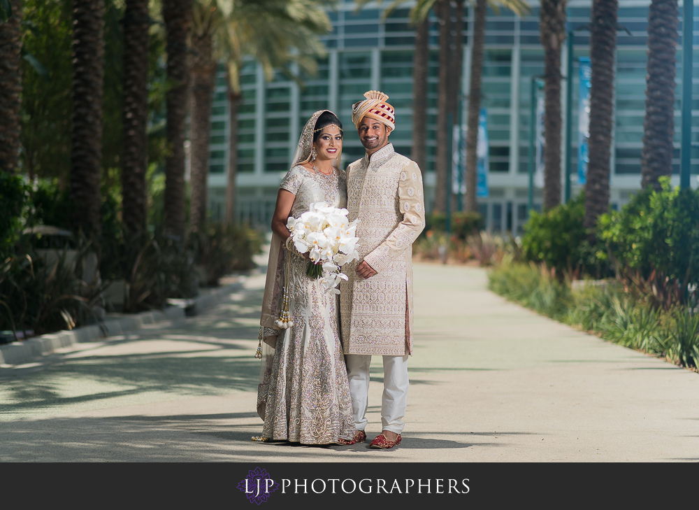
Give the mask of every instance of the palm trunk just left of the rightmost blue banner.
<path id="1" fill-rule="evenodd" d="M 545 62 L 544 208 L 561 204 L 561 48 L 565 40 L 565 0 L 542 0 L 539 11 Z"/>

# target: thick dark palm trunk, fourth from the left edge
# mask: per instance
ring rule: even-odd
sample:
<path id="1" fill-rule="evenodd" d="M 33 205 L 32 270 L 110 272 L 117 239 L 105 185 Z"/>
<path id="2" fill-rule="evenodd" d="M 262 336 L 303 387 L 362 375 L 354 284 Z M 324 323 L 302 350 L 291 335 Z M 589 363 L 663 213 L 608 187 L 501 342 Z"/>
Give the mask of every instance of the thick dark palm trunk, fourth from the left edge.
<path id="1" fill-rule="evenodd" d="M 185 236 L 185 129 L 189 99 L 187 39 L 192 24 L 192 0 L 164 0 L 163 18 L 167 30 L 168 92 L 167 139 L 170 155 L 165 160 L 165 228 Z"/>

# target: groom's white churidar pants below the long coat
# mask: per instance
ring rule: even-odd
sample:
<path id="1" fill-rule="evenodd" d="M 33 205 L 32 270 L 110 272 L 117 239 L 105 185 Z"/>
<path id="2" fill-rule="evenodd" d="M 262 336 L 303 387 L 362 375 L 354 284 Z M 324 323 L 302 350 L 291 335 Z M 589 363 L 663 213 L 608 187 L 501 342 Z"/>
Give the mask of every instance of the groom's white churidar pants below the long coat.
<path id="1" fill-rule="evenodd" d="M 405 423 L 405 408 L 408 406 L 408 355 L 383 356 L 384 393 L 381 399 L 382 430 L 400 434 Z M 368 407 L 369 365 L 371 355 L 347 354 L 347 378 L 349 394 L 352 395 L 352 413 L 356 430 L 366 427 L 366 409 Z"/>

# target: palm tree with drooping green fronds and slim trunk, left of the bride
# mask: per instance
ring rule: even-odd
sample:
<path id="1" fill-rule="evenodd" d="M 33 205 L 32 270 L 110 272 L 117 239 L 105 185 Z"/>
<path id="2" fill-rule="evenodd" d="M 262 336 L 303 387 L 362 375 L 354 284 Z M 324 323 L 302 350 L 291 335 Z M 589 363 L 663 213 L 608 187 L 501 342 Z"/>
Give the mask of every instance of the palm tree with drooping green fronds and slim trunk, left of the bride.
<path id="1" fill-rule="evenodd" d="M 240 69 L 243 59 L 257 59 L 266 80 L 272 80 L 276 69 L 288 72 L 289 64 L 294 64 L 299 73 L 312 75 L 317 67 L 316 58 L 326 54 L 318 34 L 329 29 L 330 20 L 318 1 L 238 0 L 233 4 L 226 30 L 217 32 L 215 46 L 227 64 L 230 112 L 226 222 L 233 222 L 236 208 L 238 107 L 242 97 Z M 293 78 L 300 81 L 298 76 Z"/>

